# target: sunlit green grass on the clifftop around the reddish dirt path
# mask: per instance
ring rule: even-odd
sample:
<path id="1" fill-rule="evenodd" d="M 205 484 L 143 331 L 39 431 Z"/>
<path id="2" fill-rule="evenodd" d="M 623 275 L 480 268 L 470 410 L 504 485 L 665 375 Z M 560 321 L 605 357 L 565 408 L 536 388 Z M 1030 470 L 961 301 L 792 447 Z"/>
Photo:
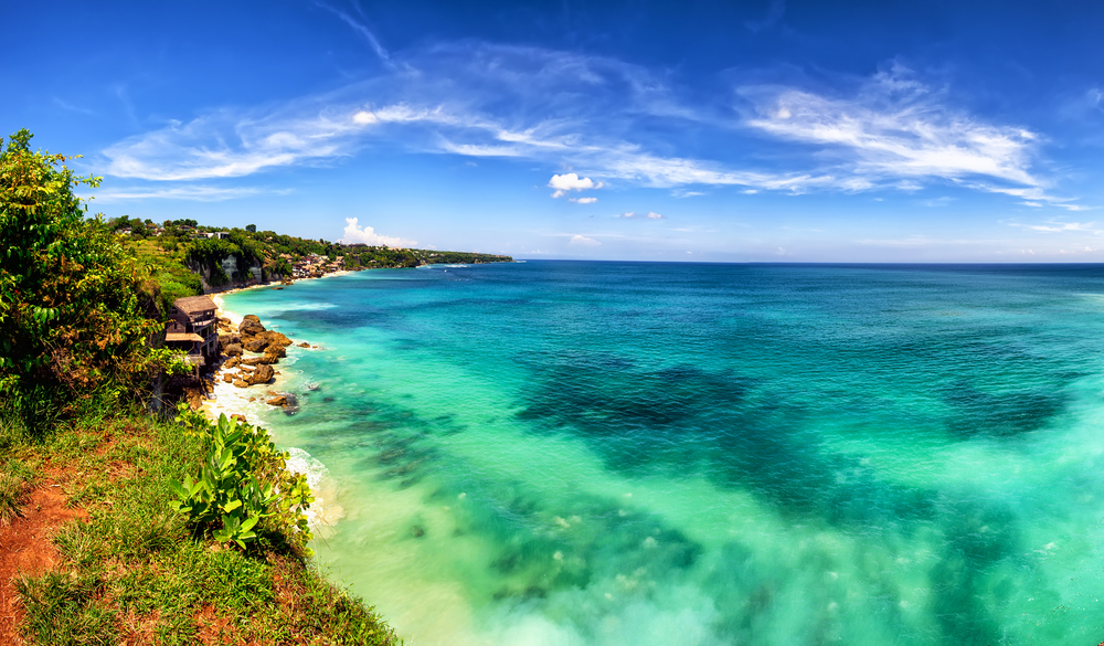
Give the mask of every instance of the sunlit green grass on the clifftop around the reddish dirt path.
<path id="1" fill-rule="evenodd" d="M 15 582 L 28 644 L 397 643 L 288 537 L 265 536 L 250 551 L 192 538 L 169 508 L 168 483 L 194 470 L 202 446 L 173 423 L 136 413 L 41 436 L 10 431 L 0 424 L 18 455 L 0 469 L 0 500 L 29 490 L 38 472 L 88 513 L 54 533 L 60 566 Z"/>

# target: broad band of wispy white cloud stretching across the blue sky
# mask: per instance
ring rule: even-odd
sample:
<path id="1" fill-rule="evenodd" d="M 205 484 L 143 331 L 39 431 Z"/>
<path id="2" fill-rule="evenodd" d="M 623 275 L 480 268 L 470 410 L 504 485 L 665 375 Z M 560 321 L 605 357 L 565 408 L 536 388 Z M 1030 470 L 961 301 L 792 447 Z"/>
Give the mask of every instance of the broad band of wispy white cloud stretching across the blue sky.
<path id="1" fill-rule="evenodd" d="M 319 7 L 371 34 L 349 13 Z M 747 109 L 721 114 L 688 107 L 669 73 L 601 56 L 476 41 L 376 53 L 394 64 L 368 81 L 283 106 L 216 110 L 123 140 L 104 150 L 107 173 L 150 180 L 243 177 L 333 163 L 386 142 L 416 152 L 535 160 L 576 169 L 554 178 L 593 184 L 565 188 L 550 181 L 554 197 L 604 183 L 690 197 L 704 187 L 797 194 L 914 191 L 951 181 L 1083 208 L 1051 194 L 1034 170 L 1040 135 L 949 107 L 945 93 L 902 68 L 877 74 L 850 94 L 742 85 L 735 92 Z M 657 135 L 687 121 L 765 141 L 772 161 L 735 167 L 723 149 L 686 148 Z"/>

